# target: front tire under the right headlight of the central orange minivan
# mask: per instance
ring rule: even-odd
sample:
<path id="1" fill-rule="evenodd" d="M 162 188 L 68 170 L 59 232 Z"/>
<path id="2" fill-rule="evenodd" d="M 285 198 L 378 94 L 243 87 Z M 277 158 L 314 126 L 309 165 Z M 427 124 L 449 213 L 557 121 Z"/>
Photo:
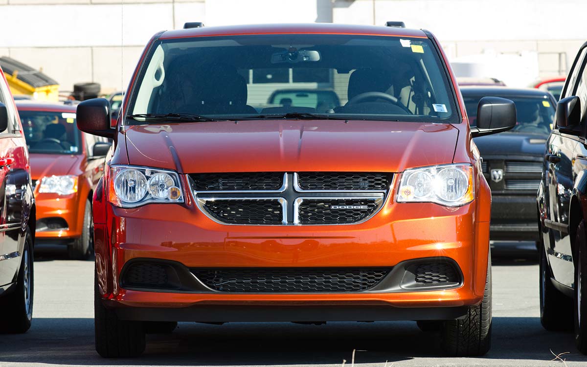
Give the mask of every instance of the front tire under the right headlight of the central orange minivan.
<path id="1" fill-rule="evenodd" d="M 491 254 L 483 301 L 461 320 L 445 321 L 443 349 L 453 356 L 482 356 L 491 348 Z"/>

